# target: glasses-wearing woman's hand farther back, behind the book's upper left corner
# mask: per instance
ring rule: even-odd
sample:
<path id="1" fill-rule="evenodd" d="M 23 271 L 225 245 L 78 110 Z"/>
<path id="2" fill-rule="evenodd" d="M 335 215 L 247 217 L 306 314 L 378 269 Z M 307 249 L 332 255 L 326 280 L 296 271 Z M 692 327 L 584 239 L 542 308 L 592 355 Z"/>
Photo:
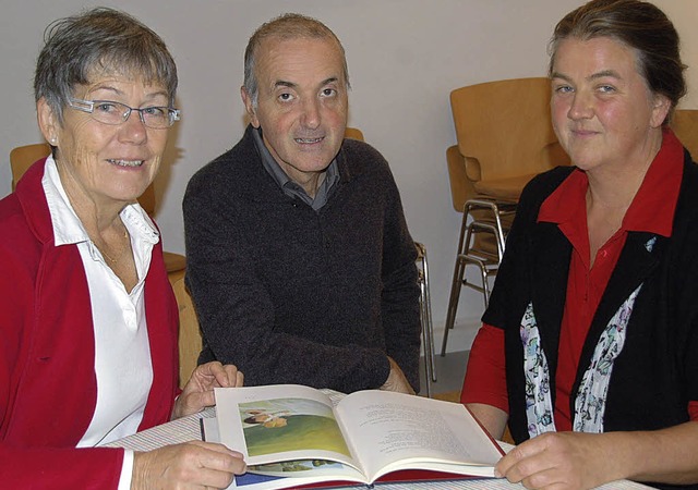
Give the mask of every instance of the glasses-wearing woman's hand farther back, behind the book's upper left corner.
<path id="1" fill-rule="evenodd" d="M 196 366 L 189 382 L 174 403 L 172 419 L 201 412 L 216 404 L 214 388 L 242 387 L 244 376 L 232 364 L 217 360 Z"/>

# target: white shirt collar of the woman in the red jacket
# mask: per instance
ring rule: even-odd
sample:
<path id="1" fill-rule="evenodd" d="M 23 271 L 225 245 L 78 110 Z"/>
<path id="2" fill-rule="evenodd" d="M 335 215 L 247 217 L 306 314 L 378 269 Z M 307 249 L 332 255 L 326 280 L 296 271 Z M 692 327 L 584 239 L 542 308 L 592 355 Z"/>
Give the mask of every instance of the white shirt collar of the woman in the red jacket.
<path id="1" fill-rule="evenodd" d="M 56 246 L 91 242 L 85 226 L 77 218 L 68 194 L 65 194 L 52 156 L 46 159 L 41 186 L 51 217 Z M 141 205 L 137 203 L 128 205 L 121 210 L 120 216 L 132 238 L 152 244 L 159 242 L 160 234 Z"/>

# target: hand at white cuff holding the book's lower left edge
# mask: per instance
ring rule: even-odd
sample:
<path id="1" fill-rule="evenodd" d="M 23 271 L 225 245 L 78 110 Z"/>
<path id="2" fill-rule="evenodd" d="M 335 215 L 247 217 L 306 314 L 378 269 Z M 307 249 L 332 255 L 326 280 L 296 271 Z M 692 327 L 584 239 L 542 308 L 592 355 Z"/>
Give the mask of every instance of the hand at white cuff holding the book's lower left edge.
<path id="1" fill-rule="evenodd" d="M 192 441 L 133 455 L 131 489 L 226 488 L 246 470 L 242 454 L 222 444 Z"/>

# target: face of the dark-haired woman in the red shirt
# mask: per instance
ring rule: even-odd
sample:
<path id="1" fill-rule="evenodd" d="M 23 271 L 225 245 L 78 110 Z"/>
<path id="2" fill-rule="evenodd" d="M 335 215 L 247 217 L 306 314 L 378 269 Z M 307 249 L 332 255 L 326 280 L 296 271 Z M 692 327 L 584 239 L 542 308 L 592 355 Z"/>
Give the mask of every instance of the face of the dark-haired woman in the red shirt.
<path id="1" fill-rule="evenodd" d="M 670 102 L 652 94 L 626 45 L 568 38 L 555 53 L 551 109 L 573 163 L 592 170 L 651 161 Z"/>

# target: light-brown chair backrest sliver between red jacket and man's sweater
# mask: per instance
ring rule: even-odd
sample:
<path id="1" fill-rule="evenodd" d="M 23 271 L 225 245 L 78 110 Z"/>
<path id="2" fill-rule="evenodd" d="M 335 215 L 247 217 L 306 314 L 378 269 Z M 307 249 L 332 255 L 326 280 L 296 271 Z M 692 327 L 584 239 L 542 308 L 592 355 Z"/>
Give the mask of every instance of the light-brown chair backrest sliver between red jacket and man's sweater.
<path id="1" fill-rule="evenodd" d="M 179 306 L 179 384 L 180 388 L 184 388 L 196 369 L 202 336 L 194 303 L 184 285 L 184 278 L 174 281 L 172 291 Z"/>

